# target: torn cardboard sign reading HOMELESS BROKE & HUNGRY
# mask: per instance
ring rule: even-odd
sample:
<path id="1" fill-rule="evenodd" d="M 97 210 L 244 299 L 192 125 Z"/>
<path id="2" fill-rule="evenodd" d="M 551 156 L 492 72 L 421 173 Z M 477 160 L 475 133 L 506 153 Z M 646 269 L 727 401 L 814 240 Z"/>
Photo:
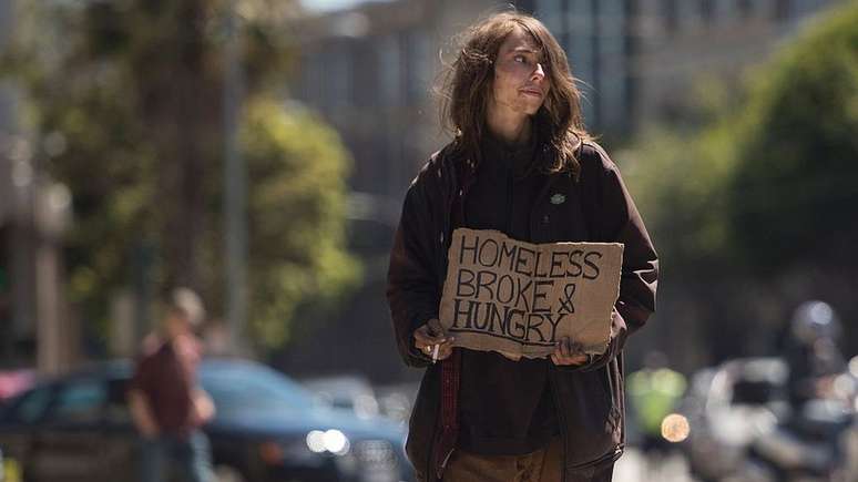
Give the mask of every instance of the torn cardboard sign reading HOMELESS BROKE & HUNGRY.
<path id="1" fill-rule="evenodd" d="M 453 232 L 440 321 L 454 346 L 541 358 L 570 337 L 602 353 L 620 295 L 623 245 L 535 245 L 497 230 Z"/>

